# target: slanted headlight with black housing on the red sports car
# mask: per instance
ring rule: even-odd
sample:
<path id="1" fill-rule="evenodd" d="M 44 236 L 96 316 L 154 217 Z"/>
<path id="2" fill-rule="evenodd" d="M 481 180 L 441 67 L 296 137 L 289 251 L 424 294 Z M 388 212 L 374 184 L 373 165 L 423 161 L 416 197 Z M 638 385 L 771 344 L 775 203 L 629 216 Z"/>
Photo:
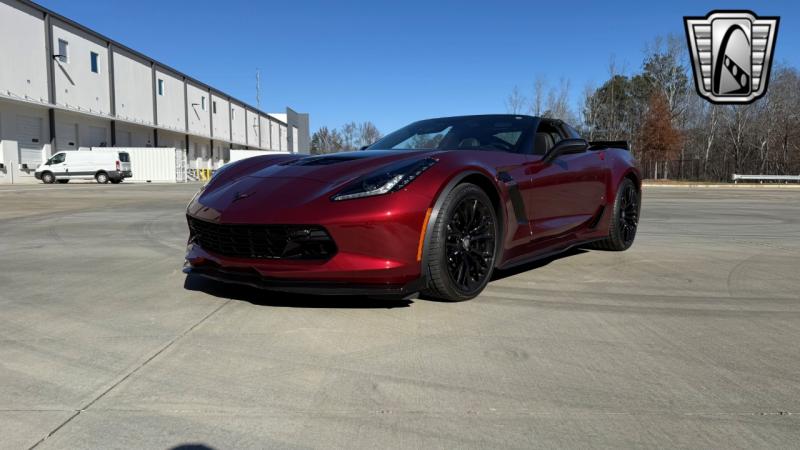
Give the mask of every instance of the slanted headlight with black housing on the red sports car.
<path id="1" fill-rule="evenodd" d="M 331 200 L 372 197 L 399 191 L 434 164 L 436 164 L 435 159 L 425 158 L 411 163 L 403 161 L 399 164 L 384 167 L 377 172 L 354 181 L 331 197 Z"/>

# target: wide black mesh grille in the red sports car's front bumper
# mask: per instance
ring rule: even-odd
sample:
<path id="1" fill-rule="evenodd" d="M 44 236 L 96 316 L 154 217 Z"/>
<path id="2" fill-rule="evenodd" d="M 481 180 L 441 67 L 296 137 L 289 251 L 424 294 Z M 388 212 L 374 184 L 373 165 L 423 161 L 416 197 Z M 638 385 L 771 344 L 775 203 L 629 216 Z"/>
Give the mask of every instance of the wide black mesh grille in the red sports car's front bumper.
<path id="1" fill-rule="evenodd" d="M 223 256 L 255 259 L 317 259 L 336 254 L 318 225 L 225 225 L 187 216 L 190 242 Z"/>

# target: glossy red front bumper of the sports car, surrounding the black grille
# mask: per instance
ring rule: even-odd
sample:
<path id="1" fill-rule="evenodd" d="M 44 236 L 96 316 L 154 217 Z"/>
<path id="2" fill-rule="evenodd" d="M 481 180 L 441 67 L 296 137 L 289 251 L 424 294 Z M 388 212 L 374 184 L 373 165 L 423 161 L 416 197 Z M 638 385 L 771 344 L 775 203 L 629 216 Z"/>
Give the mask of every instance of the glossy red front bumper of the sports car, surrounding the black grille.
<path id="1" fill-rule="evenodd" d="M 227 214 L 226 220 L 229 211 L 219 212 L 195 200 L 187 213 L 198 220 L 321 226 L 335 243 L 336 252 L 325 260 L 240 258 L 217 254 L 190 241 L 187 270 L 221 281 L 294 292 L 407 293 L 424 278 L 418 250 L 431 201 L 408 192 L 343 202 L 325 198 L 319 207 L 274 214 L 259 208 L 247 215 Z"/>

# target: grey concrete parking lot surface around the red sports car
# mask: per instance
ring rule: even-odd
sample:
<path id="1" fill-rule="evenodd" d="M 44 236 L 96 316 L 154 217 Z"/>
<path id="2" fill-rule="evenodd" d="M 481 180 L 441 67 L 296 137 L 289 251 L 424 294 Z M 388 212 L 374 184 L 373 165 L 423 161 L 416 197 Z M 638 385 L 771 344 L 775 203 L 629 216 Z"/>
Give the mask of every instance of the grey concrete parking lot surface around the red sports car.
<path id="1" fill-rule="evenodd" d="M 187 280 L 197 187 L 0 187 L 0 447 L 800 442 L 800 190 L 646 188 L 631 250 L 438 303 Z"/>

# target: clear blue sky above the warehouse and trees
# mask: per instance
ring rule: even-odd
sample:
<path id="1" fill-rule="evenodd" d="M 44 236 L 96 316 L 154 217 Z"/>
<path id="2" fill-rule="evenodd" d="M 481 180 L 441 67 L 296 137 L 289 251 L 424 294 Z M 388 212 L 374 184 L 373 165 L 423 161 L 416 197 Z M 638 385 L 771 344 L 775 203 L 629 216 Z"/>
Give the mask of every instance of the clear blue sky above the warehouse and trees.
<path id="1" fill-rule="evenodd" d="M 311 114 L 312 130 L 372 120 L 384 133 L 417 119 L 504 112 L 515 85 L 569 79 L 573 100 L 614 58 L 640 68 L 658 35 L 715 8 L 781 16 L 776 61 L 800 67 L 792 1 L 108 1 L 40 3 L 255 104 Z"/>

